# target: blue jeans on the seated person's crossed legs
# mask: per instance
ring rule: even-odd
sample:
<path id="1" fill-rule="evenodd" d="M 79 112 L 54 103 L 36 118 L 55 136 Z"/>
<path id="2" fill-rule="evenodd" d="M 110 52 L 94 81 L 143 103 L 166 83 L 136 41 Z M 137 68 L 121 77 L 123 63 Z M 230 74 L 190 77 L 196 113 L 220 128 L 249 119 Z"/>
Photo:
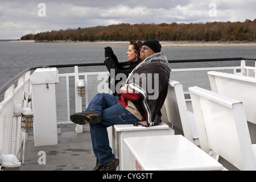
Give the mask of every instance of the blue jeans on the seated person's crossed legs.
<path id="1" fill-rule="evenodd" d="M 98 93 L 85 111 L 92 110 L 101 114 L 101 122 L 90 123 L 93 152 L 98 159 L 98 165 L 103 165 L 115 159 L 109 146 L 107 127 L 113 125 L 132 124 L 139 121 L 118 101 L 118 97 L 110 94 Z"/>

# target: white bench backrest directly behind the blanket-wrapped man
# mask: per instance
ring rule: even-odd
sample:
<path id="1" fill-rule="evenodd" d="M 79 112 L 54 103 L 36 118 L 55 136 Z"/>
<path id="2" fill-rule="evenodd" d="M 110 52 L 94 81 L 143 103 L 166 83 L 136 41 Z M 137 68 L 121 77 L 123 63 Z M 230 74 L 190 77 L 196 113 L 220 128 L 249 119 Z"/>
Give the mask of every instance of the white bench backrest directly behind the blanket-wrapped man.
<path id="1" fill-rule="evenodd" d="M 195 117 L 192 111 L 189 111 L 187 108 L 183 87 L 180 82 L 174 80 L 169 81 L 164 108 L 167 114 L 165 121 L 168 121 L 171 127 L 176 126 L 177 129 L 183 131 L 185 138 L 199 146 Z M 176 133 L 176 129 L 174 130 Z"/>

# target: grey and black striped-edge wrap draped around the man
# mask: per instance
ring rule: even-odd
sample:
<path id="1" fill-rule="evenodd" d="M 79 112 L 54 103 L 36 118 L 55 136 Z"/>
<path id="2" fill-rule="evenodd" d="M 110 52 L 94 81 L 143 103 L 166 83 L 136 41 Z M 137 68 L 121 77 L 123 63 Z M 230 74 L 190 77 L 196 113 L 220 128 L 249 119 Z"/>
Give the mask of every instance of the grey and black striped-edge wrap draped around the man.
<path id="1" fill-rule="evenodd" d="M 146 113 L 146 121 L 134 123 L 135 126 L 154 126 L 161 122 L 160 109 L 167 96 L 170 73 L 166 55 L 159 52 L 143 60 L 127 78 L 130 89 L 141 94 L 140 105 Z"/>

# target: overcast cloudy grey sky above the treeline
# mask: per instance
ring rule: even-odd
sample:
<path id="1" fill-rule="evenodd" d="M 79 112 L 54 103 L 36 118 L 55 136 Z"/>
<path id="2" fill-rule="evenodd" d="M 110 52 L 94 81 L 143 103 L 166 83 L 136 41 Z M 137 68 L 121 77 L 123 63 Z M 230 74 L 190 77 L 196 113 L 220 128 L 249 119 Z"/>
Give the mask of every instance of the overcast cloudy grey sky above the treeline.
<path id="1" fill-rule="evenodd" d="M 0 39 L 118 23 L 244 22 L 255 8 L 256 0 L 0 0 Z"/>

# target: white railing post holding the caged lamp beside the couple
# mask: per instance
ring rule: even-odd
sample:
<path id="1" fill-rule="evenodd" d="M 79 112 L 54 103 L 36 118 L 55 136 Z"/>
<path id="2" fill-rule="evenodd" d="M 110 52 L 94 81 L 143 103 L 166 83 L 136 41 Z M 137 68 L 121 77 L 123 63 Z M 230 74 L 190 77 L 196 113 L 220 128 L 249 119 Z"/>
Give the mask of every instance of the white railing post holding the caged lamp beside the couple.
<path id="1" fill-rule="evenodd" d="M 79 97 L 77 90 L 77 81 L 79 80 L 79 69 L 75 66 L 75 103 L 76 113 L 82 111 L 82 97 Z M 82 133 L 82 125 L 76 125 L 76 133 Z"/>

